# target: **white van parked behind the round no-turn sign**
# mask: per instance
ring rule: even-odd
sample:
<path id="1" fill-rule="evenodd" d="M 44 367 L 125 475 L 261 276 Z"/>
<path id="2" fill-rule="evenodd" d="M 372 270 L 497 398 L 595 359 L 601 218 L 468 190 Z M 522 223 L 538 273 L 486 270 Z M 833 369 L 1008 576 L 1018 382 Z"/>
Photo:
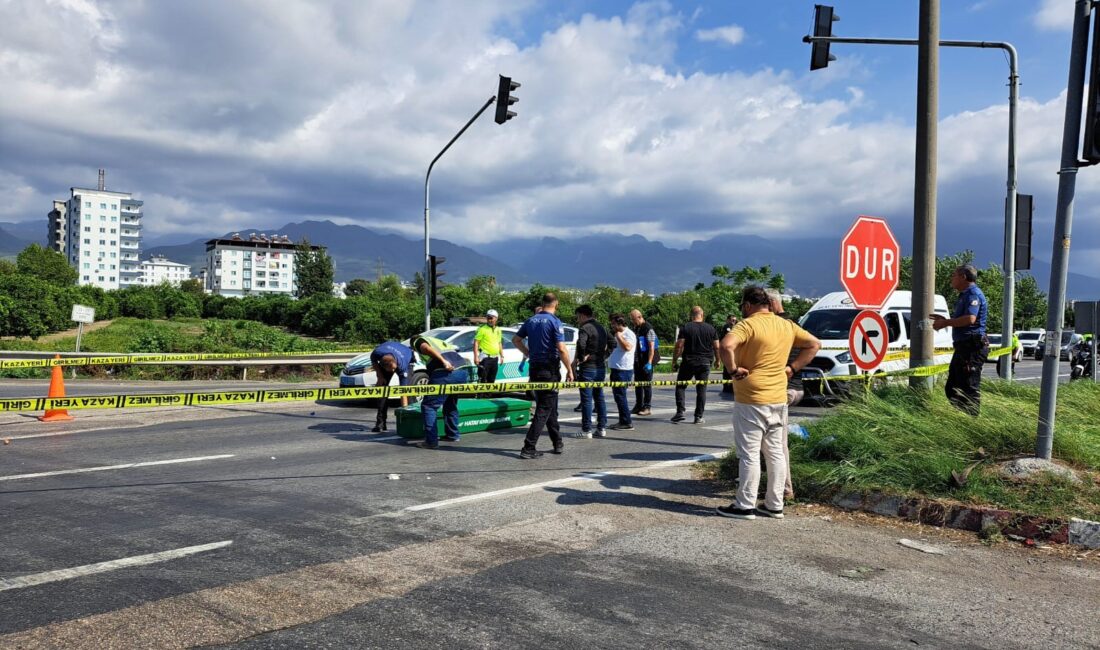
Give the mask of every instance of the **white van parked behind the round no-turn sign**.
<path id="1" fill-rule="evenodd" d="M 909 356 L 890 360 L 890 355 L 910 348 L 910 332 L 913 327 L 910 313 L 912 300 L 912 291 L 894 291 L 887 305 L 879 310 L 879 315 L 887 321 L 890 343 L 887 361 L 883 361 L 872 372 L 891 372 L 909 367 Z M 946 298 L 936 296 L 934 306 L 936 313 L 950 318 Z M 853 305 L 851 298 L 846 291 L 834 291 L 814 302 L 810 311 L 799 321 L 803 329 L 821 339 L 822 342 L 821 352 L 802 372 L 802 378 L 809 394 L 829 396 L 847 393 L 853 382 L 828 382 L 828 377 L 866 374 L 853 363 L 851 354 L 848 352 L 848 331 L 851 329 L 851 322 L 856 315 L 860 311 L 862 310 Z M 935 333 L 934 340 L 936 350 L 950 349 L 952 329 L 939 330 Z M 941 352 L 936 354 L 935 363 L 948 363 L 950 359 L 950 352 Z M 823 383 L 821 379 L 826 381 Z"/>

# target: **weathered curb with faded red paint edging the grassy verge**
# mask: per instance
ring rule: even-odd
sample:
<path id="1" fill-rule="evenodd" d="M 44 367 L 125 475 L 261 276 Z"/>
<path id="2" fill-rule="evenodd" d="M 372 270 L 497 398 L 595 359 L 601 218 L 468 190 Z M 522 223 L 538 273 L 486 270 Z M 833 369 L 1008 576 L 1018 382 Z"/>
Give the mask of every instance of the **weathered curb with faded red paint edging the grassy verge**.
<path id="1" fill-rule="evenodd" d="M 821 500 L 845 510 L 898 517 L 927 526 L 981 532 L 996 527 L 1004 535 L 1055 544 L 1077 544 L 1100 549 L 1100 521 L 1072 518 L 1048 519 L 1012 510 L 964 506 L 926 498 L 908 498 L 883 493 L 843 493 Z"/>

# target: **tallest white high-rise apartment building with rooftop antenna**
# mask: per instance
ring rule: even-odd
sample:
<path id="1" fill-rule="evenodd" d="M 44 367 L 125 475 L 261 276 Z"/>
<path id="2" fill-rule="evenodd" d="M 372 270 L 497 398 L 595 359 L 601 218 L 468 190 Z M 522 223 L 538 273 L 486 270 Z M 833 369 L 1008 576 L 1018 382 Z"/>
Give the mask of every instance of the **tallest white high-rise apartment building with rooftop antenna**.
<path id="1" fill-rule="evenodd" d="M 102 289 L 141 284 L 142 201 L 123 191 L 70 188 L 50 211 L 50 247 L 77 269 L 77 283 Z"/>

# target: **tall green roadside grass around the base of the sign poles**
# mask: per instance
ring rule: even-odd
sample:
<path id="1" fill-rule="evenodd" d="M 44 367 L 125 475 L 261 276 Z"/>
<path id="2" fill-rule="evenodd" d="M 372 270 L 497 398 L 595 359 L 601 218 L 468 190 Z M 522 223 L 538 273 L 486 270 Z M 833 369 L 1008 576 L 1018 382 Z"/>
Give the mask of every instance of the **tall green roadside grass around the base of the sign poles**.
<path id="1" fill-rule="evenodd" d="M 1038 387 L 982 382 L 981 416 L 955 409 L 937 389 L 925 399 L 891 386 L 846 403 L 805 425 L 809 439 L 791 438 L 796 494 L 882 492 L 954 499 L 1054 518 L 1100 520 L 1100 386 L 1074 382 L 1058 388 L 1054 458 L 1078 470 L 1074 483 L 1049 473 L 1028 480 L 1002 475 L 997 463 L 1035 449 Z M 980 462 L 963 487 L 952 472 Z M 737 459 L 718 463 L 719 480 L 733 481 Z"/>

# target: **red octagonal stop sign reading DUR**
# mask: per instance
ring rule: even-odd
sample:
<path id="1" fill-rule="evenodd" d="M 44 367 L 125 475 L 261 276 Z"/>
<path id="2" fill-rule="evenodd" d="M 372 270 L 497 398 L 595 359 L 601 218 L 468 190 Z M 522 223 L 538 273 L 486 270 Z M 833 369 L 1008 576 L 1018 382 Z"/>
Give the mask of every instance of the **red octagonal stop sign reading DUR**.
<path id="1" fill-rule="evenodd" d="M 860 309 L 881 309 L 898 288 L 901 250 L 878 217 L 858 217 L 840 241 L 840 284 Z"/>

